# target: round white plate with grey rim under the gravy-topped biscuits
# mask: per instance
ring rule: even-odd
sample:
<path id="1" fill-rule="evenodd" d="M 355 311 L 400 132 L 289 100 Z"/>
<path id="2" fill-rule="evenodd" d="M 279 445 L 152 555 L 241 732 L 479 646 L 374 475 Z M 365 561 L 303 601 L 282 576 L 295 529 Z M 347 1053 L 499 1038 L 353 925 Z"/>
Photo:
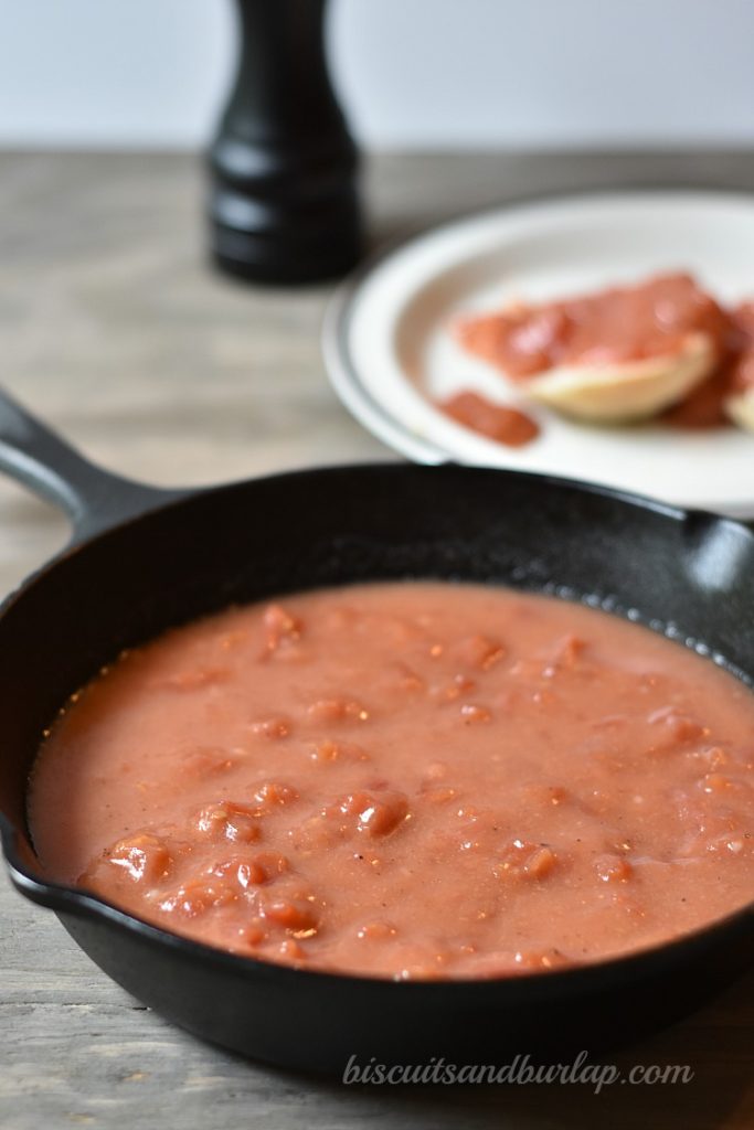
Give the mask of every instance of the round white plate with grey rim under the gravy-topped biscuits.
<path id="1" fill-rule="evenodd" d="M 414 460 L 545 471 L 664 502 L 754 513 L 754 435 L 597 428 L 527 407 L 541 435 L 512 449 L 431 403 L 469 388 L 517 403 L 515 390 L 453 340 L 448 327 L 459 312 L 670 270 L 692 271 L 723 302 L 754 296 L 754 198 L 675 191 L 578 197 L 435 228 L 340 289 L 326 319 L 326 363 L 354 416 Z"/>

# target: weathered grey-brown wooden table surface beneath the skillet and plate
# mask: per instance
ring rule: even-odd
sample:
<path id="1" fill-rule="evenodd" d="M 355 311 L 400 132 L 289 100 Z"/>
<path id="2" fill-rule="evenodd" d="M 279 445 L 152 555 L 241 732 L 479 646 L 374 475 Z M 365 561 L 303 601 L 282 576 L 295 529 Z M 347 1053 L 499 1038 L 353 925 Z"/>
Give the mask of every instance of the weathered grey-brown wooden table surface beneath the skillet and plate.
<path id="1" fill-rule="evenodd" d="M 374 242 L 545 192 L 629 184 L 754 190 L 752 154 L 427 155 L 371 163 Z M 0 155 L 0 381 L 92 458 L 199 484 L 385 458 L 339 406 L 319 348 L 329 287 L 271 290 L 202 254 L 189 156 Z M 0 590 L 64 522 L 0 481 Z M 243 1062 L 164 1023 L 0 878 L 0 1125 L 181 1130 L 754 1127 L 754 979 L 607 1057 L 687 1063 L 687 1085 L 344 1087 Z M 323 1019 L 327 1023 L 327 1019 Z"/>

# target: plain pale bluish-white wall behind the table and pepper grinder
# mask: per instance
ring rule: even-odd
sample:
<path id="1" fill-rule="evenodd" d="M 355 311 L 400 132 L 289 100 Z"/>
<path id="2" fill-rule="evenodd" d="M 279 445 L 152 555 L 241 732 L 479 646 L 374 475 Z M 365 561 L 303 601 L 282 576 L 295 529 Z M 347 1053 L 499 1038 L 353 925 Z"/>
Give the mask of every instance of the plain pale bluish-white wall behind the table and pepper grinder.
<path id="1" fill-rule="evenodd" d="M 371 146 L 754 142 L 754 0 L 332 0 L 330 40 Z M 0 0 L 0 145 L 196 146 L 232 60 L 231 0 Z"/>

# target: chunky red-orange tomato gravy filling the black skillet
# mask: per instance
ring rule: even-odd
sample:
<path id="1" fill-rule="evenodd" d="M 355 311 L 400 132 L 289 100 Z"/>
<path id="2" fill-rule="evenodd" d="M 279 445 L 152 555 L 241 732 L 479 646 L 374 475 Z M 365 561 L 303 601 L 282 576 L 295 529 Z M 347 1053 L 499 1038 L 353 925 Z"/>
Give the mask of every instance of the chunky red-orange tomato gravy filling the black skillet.
<path id="1" fill-rule="evenodd" d="M 398 979 L 591 962 L 754 895 L 754 696 L 606 614 L 406 582 L 231 609 L 76 696 L 45 873 L 236 954 Z"/>

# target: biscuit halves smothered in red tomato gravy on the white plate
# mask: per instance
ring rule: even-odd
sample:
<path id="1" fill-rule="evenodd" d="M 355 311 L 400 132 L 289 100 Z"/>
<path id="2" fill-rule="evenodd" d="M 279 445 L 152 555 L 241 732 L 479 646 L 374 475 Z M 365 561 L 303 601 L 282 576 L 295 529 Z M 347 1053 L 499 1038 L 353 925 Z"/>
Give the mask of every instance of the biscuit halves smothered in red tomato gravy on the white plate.
<path id="1" fill-rule="evenodd" d="M 727 312 L 692 276 L 670 273 L 513 304 L 465 318 L 456 332 L 520 394 L 566 416 L 616 424 L 667 412 L 677 426 L 719 426 L 730 417 L 748 427 L 752 381 L 743 358 L 747 349 L 754 357 L 751 308 Z"/>

